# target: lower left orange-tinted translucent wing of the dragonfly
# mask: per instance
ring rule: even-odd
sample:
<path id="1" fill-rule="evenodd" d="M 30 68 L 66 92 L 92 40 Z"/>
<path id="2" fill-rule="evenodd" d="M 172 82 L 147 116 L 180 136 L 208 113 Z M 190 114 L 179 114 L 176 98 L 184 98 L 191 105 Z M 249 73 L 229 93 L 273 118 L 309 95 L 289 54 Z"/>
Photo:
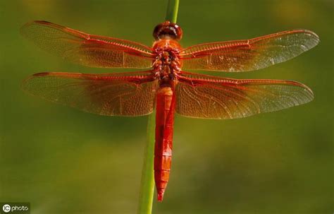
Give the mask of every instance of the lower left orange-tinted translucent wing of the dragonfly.
<path id="1" fill-rule="evenodd" d="M 36 73 L 23 82 L 23 90 L 32 95 L 108 116 L 150 114 L 154 109 L 156 86 L 157 81 L 149 71 L 114 74 Z"/>

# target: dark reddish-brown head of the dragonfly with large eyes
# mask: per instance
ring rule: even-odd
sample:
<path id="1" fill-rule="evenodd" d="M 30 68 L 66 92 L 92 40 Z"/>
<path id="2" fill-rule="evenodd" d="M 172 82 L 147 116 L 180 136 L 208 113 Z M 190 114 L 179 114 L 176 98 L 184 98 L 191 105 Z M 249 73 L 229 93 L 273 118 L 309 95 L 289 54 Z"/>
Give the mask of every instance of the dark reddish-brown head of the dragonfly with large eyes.
<path id="1" fill-rule="evenodd" d="M 157 40 L 180 40 L 183 32 L 179 25 L 171 23 L 169 20 L 156 25 L 153 31 L 154 39 Z"/>

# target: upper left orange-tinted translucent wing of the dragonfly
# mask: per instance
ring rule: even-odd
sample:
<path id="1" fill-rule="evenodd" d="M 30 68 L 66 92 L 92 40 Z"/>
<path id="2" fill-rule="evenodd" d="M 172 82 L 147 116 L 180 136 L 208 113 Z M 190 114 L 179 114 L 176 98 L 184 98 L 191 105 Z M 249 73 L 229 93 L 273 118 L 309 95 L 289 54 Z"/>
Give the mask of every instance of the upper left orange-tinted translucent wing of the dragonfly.
<path id="1" fill-rule="evenodd" d="M 151 48 L 137 42 L 85 32 L 46 21 L 23 25 L 21 34 L 37 46 L 77 64 L 99 68 L 150 68 Z"/>

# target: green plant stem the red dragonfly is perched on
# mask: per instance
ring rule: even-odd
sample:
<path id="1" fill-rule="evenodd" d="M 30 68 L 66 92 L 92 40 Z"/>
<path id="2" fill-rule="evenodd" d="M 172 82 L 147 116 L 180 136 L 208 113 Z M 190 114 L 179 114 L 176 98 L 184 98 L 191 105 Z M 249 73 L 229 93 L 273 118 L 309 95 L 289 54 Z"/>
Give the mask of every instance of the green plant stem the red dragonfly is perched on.
<path id="1" fill-rule="evenodd" d="M 166 20 L 176 23 L 178 18 L 179 0 L 168 0 Z M 142 180 L 140 182 L 140 198 L 138 214 L 151 214 L 154 196 L 154 142 L 155 142 L 155 111 L 149 115 L 147 122 L 147 145 L 144 152 L 142 166 Z"/>

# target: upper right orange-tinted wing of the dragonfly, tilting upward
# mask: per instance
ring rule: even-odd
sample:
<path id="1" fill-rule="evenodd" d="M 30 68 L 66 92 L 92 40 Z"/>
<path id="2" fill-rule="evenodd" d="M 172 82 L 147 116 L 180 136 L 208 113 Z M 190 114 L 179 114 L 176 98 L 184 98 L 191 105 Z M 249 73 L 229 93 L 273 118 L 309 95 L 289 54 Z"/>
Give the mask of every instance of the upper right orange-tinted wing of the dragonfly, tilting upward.
<path id="1" fill-rule="evenodd" d="M 211 71 L 252 71 L 278 64 L 318 44 L 309 30 L 290 30 L 252 40 L 198 44 L 183 49 L 183 69 Z"/>

